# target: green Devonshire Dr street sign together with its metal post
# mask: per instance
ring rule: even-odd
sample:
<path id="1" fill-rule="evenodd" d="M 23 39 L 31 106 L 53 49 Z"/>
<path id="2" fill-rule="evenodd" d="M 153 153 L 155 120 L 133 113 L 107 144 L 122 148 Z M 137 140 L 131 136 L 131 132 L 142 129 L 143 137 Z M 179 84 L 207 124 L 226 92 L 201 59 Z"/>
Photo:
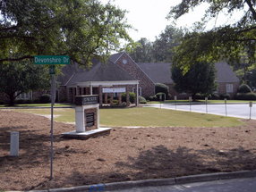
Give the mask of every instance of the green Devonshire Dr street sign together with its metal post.
<path id="1" fill-rule="evenodd" d="M 51 130 L 50 130 L 50 179 L 53 179 L 54 164 L 54 104 L 56 95 L 55 64 L 70 64 L 67 55 L 37 55 L 34 56 L 34 64 L 48 64 L 51 75 Z"/>

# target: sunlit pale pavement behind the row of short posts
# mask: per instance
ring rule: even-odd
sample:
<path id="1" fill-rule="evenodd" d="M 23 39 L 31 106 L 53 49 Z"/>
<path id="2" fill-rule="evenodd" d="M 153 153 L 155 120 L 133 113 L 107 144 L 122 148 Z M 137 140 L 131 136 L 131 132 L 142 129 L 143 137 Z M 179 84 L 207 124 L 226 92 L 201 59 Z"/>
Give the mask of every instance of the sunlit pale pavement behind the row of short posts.
<path id="1" fill-rule="evenodd" d="M 148 106 L 179 111 L 192 111 L 197 113 L 210 113 L 224 116 L 226 115 L 244 119 L 250 118 L 249 104 L 150 104 Z M 251 118 L 256 120 L 256 104 L 252 105 Z"/>

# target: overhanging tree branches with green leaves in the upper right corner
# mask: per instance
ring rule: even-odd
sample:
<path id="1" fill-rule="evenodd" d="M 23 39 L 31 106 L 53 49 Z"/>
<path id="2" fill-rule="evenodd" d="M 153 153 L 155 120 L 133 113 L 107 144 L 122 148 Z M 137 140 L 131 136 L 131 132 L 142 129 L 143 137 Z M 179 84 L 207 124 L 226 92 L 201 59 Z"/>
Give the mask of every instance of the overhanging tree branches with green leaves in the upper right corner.
<path id="1" fill-rule="evenodd" d="M 255 63 L 256 1 L 183 0 L 171 9 L 168 17 L 176 20 L 203 3 L 209 3 L 209 8 L 197 28 L 187 32 L 180 45 L 175 47 L 173 62 L 188 71 L 192 63 L 203 61 L 228 60 L 230 63 L 240 63 L 241 55 L 246 54 L 248 63 Z M 243 11 L 243 16 L 234 24 L 203 30 L 209 19 L 216 19 L 224 11 L 230 15 Z"/>

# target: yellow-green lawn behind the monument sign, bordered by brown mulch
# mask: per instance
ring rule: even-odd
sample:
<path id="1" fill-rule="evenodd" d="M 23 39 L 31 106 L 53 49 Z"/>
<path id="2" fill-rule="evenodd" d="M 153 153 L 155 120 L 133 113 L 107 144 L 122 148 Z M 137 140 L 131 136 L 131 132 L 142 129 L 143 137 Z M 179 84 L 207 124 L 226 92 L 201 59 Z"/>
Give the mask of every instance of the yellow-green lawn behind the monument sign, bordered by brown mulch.
<path id="1" fill-rule="evenodd" d="M 50 109 L 15 109 L 23 113 L 49 115 Z M 73 122 L 74 109 L 55 109 L 55 121 Z M 235 127 L 243 125 L 236 118 L 205 113 L 179 112 L 158 108 L 101 109 L 101 126 L 143 127 Z"/>

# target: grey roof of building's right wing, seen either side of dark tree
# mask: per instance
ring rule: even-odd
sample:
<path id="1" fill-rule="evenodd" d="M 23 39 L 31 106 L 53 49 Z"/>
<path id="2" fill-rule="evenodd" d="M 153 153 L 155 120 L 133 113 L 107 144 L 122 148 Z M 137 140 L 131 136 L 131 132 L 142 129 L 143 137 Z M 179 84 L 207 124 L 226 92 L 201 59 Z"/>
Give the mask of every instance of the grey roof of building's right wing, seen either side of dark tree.
<path id="1" fill-rule="evenodd" d="M 173 84 L 171 66 L 172 63 L 138 63 L 154 83 Z M 227 63 L 215 63 L 217 82 L 239 82 L 235 72 Z"/>

